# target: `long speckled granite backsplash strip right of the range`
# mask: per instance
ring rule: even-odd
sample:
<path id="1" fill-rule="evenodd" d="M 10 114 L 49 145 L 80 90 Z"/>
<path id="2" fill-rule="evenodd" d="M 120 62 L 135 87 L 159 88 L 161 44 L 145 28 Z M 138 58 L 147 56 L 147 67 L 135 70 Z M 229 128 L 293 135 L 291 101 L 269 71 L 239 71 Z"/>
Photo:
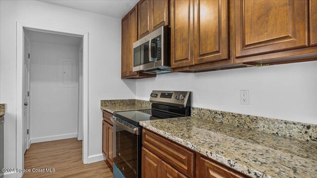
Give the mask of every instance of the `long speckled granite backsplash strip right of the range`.
<path id="1" fill-rule="evenodd" d="M 249 128 L 268 134 L 292 137 L 305 141 L 317 141 L 317 125 L 271 119 L 204 108 L 191 108 L 191 116 L 211 121 Z"/>

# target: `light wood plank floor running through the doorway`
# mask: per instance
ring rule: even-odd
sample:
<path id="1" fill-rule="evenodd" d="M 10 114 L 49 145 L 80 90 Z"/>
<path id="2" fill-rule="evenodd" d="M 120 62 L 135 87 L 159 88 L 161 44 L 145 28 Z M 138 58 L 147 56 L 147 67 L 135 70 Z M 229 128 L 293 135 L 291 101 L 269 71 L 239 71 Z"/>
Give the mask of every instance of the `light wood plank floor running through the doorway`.
<path id="1" fill-rule="evenodd" d="M 112 178 L 106 161 L 83 164 L 82 141 L 76 138 L 33 143 L 25 153 L 25 169 L 55 169 L 54 173 L 24 173 L 23 178 Z"/>

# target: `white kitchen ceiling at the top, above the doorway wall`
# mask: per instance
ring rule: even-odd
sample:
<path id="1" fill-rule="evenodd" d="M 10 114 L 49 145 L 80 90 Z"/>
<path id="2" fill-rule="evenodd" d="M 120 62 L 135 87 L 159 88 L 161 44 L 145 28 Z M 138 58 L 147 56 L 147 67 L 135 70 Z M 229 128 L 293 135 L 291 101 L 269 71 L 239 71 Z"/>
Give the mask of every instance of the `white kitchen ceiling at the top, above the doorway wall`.
<path id="1" fill-rule="evenodd" d="M 138 0 L 39 0 L 110 17 L 122 18 Z"/>

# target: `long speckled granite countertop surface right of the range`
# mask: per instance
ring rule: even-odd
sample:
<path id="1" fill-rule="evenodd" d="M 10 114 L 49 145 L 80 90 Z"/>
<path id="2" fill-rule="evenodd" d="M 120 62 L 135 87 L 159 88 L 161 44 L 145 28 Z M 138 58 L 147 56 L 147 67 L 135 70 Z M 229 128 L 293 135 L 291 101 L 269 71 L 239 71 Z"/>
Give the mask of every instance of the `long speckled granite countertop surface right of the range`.
<path id="1" fill-rule="evenodd" d="M 317 142 L 199 117 L 140 125 L 253 178 L 317 178 Z"/>

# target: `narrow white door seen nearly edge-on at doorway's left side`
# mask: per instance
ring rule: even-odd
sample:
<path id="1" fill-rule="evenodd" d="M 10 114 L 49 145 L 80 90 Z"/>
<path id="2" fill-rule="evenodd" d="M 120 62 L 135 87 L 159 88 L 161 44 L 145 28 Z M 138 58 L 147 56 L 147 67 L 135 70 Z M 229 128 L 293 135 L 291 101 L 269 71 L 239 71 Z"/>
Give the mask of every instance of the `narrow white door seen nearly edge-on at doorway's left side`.
<path id="1" fill-rule="evenodd" d="M 23 153 L 25 153 L 28 147 L 28 104 L 29 104 L 29 59 L 30 59 L 30 43 L 24 39 L 24 73 L 23 73 Z"/>

